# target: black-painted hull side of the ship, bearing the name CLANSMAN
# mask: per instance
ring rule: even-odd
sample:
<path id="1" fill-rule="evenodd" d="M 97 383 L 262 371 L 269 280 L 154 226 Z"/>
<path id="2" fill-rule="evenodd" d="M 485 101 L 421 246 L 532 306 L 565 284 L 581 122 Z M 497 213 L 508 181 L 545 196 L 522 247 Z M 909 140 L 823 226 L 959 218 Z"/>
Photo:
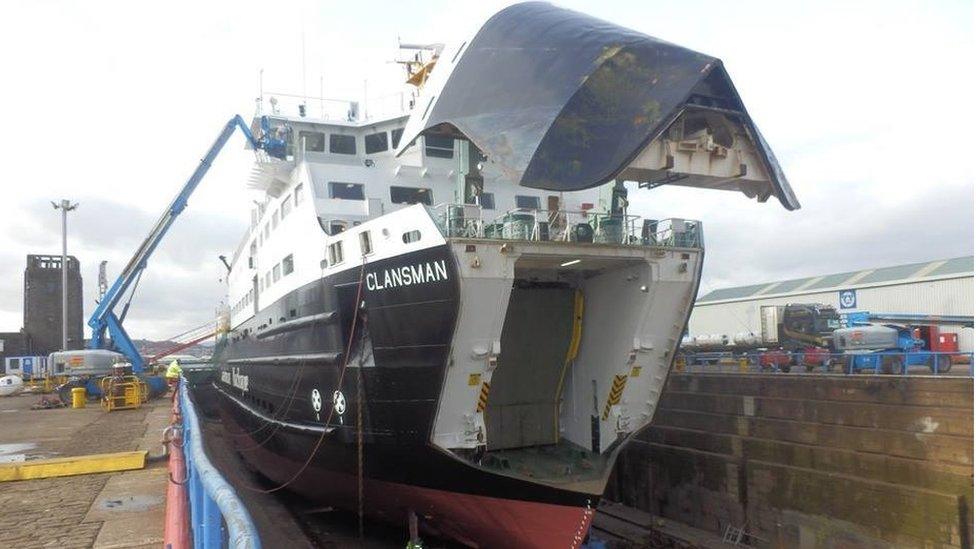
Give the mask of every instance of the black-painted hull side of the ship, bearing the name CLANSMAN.
<path id="1" fill-rule="evenodd" d="M 485 470 L 430 443 L 458 311 L 453 262 L 444 245 L 370 263 L 363 270 L 352 268 L 292 292 L 237 327 L 219 357 L 215 387 L 238 450 L 275 483 L 288 483 L 289 490 L 312 501 L 355 509 L 361 411 L 370 514 L 401 523 L 409 506 L 431 517 L 442 532 L 482 545 L 485 536 L 490 541 L 493 535 L 487 527 L 469 524 L 481 518 L 445 516 L 458 506 L 452 497 L 474 498 L 477 503 L 469 505 L 474 507 L 538 505 L 539 513 L 552 515 L 558 523 L 553 527 L 562 530 L 580 520 L 588 524 L 588 509 L 595 507 L 599 493 Z M 424 283 L 380 287 L 391 269 L 431 264 L 442 264 L 446 276 L 435 272 Z M 364 314 L 353 332 L 360 292 Z M 345 407 L 333 409 L 340 377 Z M 360 389 L 365 395 L 361 410 Z M 536 507 L 527 509 L 535 512 Z M 555 534 L 539 533 L 537 539 L 550 535 Z M 537 545 L 531 541 L 535 538 L 524 539 Z"/>

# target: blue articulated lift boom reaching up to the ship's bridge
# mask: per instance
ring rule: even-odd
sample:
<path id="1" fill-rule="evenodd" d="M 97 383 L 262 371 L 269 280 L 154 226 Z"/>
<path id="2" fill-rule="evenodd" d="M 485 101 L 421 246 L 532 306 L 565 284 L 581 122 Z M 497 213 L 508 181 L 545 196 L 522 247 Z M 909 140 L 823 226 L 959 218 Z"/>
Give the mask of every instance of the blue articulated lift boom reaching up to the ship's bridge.
<path id="1" fill-rule="evenodd" d="M 149 231 L 149 235 L 139 245 L 132 259 L 129 260 L 125 269 L 122 270 L 119 277 L 109 287 L 108 291 L 105 292 L 105 295 L 98 303 L 98 307 L 95 308 L 91 318 L 88 319 L 88 326 L 92 329 L 92 337 L 88 343 L 88 348 L 110 349 L 122 353 L 132 363 L 132 372 L 134 374 L 142 373 L 145 370 L 145 360 L 139 354 L 139 350 L 136 349 L 135 344 L 132 342 L 129 334 L 126 333 L 125 328 L 122 327 L 132 300 L 131 293 L 129 301 L 126 302 L 119 314 L 116 314 L 115 309 L 122 302 L 123 296 L 130 288 L 132 289 L 132 293 L 135 292 L 135 287 L 138 286 L 139 278 L 146 269 L 149 258 L 152 257 L 153 252 L 156 251 L 156 247 L 159 246 L 163 237 L 166 236 L 166 233 L 173 225 L 173 222 L 176 221 L 176 218 L 186 209 L 190 195 L 193 194 L 200 181 L 207 175 L 213 161 L 220 154 L 224 145 L 227 144 L 227 141 L 233 135 L 236 128 L 241 129 L 248 143 L 254 149 L 263 150 L 274 158 L 285 158 L 286 142 L 271 130 L 268 117 L 261 117 L 261 136 L 257 139 L 240 115 L 235 115 L 231 118 L 224 125 L 224 129 L 217 136 L 216 141 L 210 146 L 210 150 L 207 151 L 206 156 L 200 160 L 200 165 L 194 170 L 193 175 L 190 176 L 190 179 L 180 189 L 179 194 L 176 195 L 176 198 L 163 211 L 162 216 L 153 225 L 152 230 Z M 108 335 L 108 338 L 106 338 L 106 335 Z"/>

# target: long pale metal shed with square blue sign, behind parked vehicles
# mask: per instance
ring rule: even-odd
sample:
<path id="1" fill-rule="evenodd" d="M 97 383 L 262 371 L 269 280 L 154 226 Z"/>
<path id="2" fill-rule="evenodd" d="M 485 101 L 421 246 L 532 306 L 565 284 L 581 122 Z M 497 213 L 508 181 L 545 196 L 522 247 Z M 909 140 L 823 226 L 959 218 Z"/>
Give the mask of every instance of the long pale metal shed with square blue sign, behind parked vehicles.
<path id="1" fill-rule="evenodd" d="M 759 333 L 759 308 L 787 303 L 824 303 L 841 313 L 973 316 L 973 256 L 714 290 L 695 302 L 688 333 Z M 959 334 L 960 350 L 973 350 L 971 328 L 944 331 Z"/>

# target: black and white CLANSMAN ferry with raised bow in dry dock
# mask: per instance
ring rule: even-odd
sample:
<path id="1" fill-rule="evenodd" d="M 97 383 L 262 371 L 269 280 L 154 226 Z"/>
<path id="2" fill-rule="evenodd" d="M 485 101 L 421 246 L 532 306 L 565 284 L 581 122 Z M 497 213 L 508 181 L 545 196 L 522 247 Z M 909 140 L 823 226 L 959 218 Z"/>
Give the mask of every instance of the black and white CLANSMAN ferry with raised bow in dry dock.
<path id="1" fill-rule="evenodd" d="M 288 150 L 255 151 L 222 414 L 310 502 L 578 547 L 654 417 L 704 258 L 700 221 L 641 218 L 628 193 L 799 203 L 714 57 L 545 3 L 415 47 L 400 113 L 259 105 Z"/>

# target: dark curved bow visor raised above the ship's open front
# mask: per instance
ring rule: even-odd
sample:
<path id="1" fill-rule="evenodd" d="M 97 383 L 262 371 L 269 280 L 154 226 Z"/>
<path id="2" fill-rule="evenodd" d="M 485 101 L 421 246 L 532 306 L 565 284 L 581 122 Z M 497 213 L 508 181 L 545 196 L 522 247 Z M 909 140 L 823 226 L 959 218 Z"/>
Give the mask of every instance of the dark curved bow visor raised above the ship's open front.
<path id="1" fill-rule="evenodd" d="M 525 187 L 618 179 L 800 207 L 720 60 L 545 3 L 445 50 L 404 134 L 397 154 L 421 135 L 467 139 Z"/>

